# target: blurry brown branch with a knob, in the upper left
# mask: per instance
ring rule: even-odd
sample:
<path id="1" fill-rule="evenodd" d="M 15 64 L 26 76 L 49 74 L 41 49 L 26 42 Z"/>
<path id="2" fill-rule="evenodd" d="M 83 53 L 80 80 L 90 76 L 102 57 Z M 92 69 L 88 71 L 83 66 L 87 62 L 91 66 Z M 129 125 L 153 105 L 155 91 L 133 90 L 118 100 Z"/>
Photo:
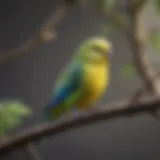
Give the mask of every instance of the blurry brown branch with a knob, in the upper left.
<path id="1" fill-rule="evenodd" d="M 22 56 L 28 51 L 39 47 L 43 43 L 54 40 L 56 38 L 55 28 L 65 16 L 67 8 L 75 1 L 76 0 L 63 0 L 63 2 L 57 7 L 56 11 L 51 13 L 49 18 L 42 24 L 38 34 L 27 40 L 20 47 L 9 51 L 9 55 L 0 57 L 0 64 L 15 59 L 18 56 Z"/>

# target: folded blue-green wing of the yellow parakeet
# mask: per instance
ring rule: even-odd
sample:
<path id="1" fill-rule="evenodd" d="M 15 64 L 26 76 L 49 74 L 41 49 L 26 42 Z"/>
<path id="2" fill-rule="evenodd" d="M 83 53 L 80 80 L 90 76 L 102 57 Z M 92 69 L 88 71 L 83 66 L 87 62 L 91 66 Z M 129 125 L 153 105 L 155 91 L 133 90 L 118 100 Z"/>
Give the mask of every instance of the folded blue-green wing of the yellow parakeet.
<path id="1" fill-rule="evenodd" d="M 53 93 L 51 106 L 58 106 L 62 102 L 73 102 L 79 94 L 82 66 L 73 62 L 59 77 Z"/>

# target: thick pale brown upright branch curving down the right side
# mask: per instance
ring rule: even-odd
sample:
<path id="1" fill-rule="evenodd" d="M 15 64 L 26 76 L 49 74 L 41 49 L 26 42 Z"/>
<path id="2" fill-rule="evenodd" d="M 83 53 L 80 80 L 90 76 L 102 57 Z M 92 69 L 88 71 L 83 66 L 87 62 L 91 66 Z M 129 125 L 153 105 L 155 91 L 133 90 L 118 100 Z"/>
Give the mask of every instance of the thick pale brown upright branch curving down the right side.
<path id="1" fill-rule="evenodd" d="M 129 2 L 129 17 L 130 17 L 130 34 L 128 38 L 131 41 L 132 49 L 134 51 L 134 58 L 137 71 L 142 81 L 144 82 L 145 88 L 160 95 L 160 88 L 157 84 L 157 77 L 155 76 L 155 71 L 149 65 L 149 61 L 147 59 L 147 54 L 144 52 L 145 47 L 145 35 L 142 35 L 143 30 L 140 26 L 140 7 L 144 5 L 146 2 L 142 0 L 139 2 L 140 6 L 134 5 L 134 0 L 130 0 Z M 138 7 L 138 10 L 137 10 Z"/>

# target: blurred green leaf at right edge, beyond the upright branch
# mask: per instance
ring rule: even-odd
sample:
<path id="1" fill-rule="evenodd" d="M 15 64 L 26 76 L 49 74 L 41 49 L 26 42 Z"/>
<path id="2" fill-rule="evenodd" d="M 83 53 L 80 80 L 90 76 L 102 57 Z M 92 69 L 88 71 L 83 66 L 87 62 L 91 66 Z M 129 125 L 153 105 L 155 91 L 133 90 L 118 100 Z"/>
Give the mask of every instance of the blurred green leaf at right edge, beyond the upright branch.
<path id="1" fill-rule="evenodd" d="M 160 53 L 160 32 L 154 31 L 150 33 L 149 41 L 151 45 Z"/>

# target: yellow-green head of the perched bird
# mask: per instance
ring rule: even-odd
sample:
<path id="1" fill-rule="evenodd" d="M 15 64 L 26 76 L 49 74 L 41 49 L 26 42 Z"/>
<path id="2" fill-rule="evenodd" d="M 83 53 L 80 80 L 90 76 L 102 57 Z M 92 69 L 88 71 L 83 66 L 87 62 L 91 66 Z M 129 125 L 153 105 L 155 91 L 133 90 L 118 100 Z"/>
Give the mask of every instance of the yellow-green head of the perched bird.
<path id="1" fill-rule="evenodd" d="M 78 57 L 91 63 L 106 63 L 112 54 L 111 43 L 103 37 L 93 37 L 85 40 L 79 48 Z"/>

